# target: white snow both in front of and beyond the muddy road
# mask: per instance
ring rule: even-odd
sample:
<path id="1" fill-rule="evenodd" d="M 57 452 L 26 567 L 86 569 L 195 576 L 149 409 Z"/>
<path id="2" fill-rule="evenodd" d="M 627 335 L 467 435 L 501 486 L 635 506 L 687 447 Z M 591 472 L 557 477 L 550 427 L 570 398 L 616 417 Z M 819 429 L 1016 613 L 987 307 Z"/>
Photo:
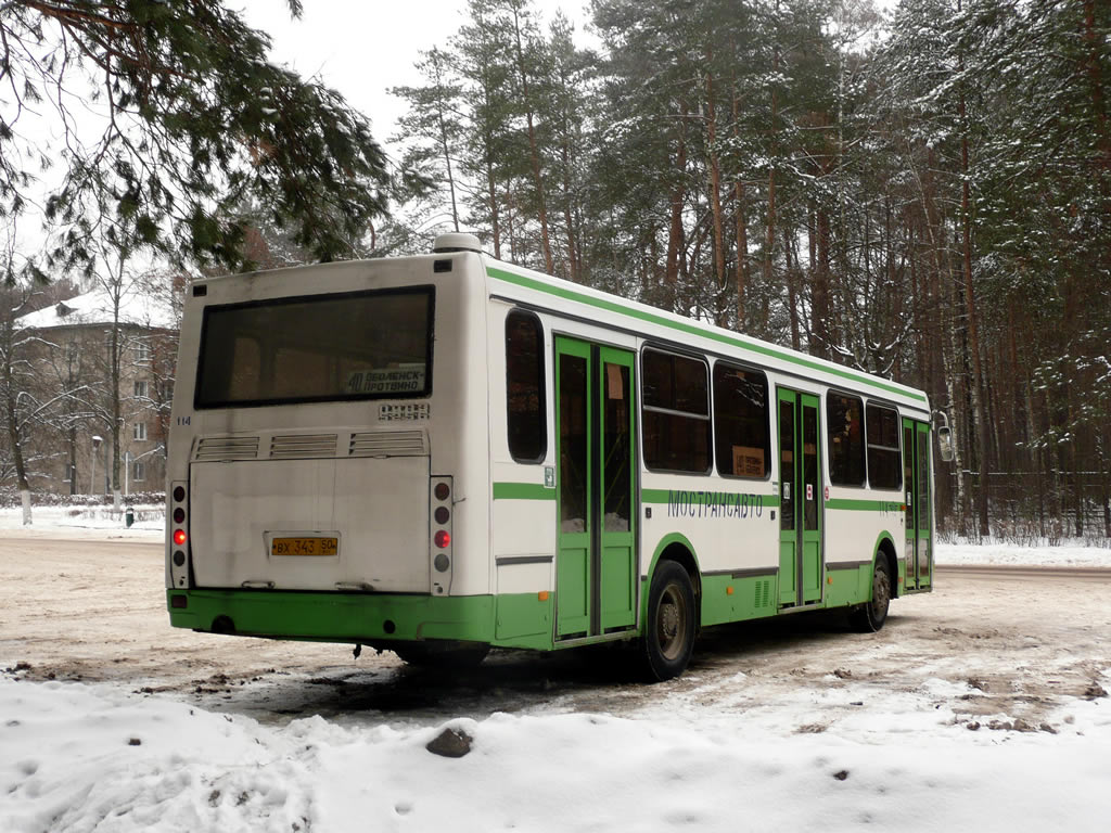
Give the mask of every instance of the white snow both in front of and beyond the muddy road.
<path id="1" fill-rule="evenodd" d="M 18 510 L 0 511 L 0 536 L 162 536 L 160 520 L 124 530 L 103 510 L 36 509 L 34 522 L 28 532 Z M 1111 551 L 941 545 L 938 561 L 1111 566 Z M 160 563 L 150 566 L 160 574 Z M 1105 584 L 1091 588 L 1107 598 Z M 919 600 L 903 609 L 904 633 L 940 601 L 905 604 Z M 850 639 L 834 634 L 804 643 L 798 685 L 772 685 L 760 656 L 747 654 L 723 679 L 703 666 L 637 690 L 637 706 L 620 715 L 583 711 L 557 691 L 512 713 L 260 721 L 207 710 L 180 691 L 34 679 L 17 655 L 0 653 L 0 831 L 1102 833 L 1111 817 L 1111 645 L 1098 610 L 1067 618 L 1085 634 L 1091 685 L 1053 697 L 1034 723 L 1014 710 L 972 711 L 989 688 L 974 676 L 974 663 L 991 662 L 987 631 L 967 643 L 984 650 L 963 674 L 938 665 L 910 683 L 892 675 L 914 659 L 890 634 L 853 648 L 852 673 L 834 671 L 842 660 L 821 654 Z M 933 628 L 919 638 L 950 634 Z M 446 727 L 472 739 L 469 754 L 426 749 Z"/>

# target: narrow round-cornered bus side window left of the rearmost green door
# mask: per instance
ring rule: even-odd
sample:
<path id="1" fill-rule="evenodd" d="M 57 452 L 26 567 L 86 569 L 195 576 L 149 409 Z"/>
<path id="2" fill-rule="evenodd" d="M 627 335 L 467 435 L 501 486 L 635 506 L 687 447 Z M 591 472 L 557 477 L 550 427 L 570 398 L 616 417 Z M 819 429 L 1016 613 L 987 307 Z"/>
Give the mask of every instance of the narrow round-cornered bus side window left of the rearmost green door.
<path id="1" fill-rule="evenodd" d="M 509 453 L 519 463 L 539 463 L 548 453 L 543 343 L 540 319 L 531 312 L 506 317 Z"/>

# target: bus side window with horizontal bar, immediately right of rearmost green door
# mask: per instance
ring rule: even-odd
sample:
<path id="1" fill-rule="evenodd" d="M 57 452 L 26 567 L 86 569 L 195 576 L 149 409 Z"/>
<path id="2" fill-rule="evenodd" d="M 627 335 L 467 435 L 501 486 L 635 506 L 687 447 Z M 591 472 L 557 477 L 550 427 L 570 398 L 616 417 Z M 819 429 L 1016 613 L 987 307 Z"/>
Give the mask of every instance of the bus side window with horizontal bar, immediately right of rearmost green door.
<path id="1" fill-rule="evenodd" d="M 645 350 L 641 357 L 644 464 L 710 471 L 710 373 L 704 361 Z"/>

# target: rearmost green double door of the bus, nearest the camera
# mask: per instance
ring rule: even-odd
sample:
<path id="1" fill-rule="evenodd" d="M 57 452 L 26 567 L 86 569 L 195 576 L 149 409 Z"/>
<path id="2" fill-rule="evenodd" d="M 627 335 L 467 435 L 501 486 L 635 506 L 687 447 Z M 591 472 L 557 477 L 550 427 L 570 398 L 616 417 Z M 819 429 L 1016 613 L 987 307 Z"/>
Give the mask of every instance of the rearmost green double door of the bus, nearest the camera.
<path id="1" fill-rule="evenodd" d="M 633 354 L 557 337 L 556 636 L 635 625 Z"/>

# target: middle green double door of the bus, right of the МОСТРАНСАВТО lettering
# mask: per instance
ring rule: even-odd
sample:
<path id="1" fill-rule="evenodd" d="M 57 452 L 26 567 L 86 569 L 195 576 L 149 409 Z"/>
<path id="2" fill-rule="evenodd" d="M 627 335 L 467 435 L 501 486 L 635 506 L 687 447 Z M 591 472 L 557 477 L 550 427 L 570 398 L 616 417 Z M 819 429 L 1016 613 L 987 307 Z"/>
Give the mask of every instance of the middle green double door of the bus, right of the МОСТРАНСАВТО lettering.
<path id="1" fill-rule="evenodd" d="M 779 389 L 779 604 L 821 601 L 821 409 L 818 397 Z"/>

